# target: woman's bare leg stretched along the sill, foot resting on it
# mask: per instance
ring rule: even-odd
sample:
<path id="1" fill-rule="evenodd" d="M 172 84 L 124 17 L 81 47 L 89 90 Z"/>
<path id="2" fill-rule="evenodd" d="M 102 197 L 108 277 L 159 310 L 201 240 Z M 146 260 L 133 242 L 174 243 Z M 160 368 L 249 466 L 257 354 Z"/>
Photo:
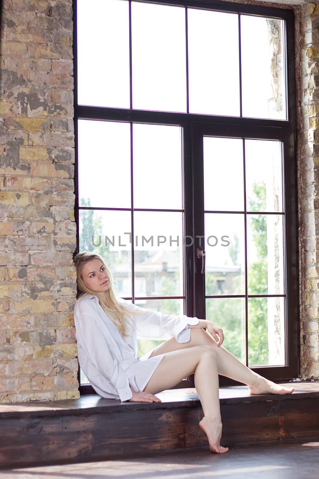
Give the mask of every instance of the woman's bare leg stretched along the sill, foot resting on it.
<path id="1" fill-rule="evenodd" d="M 222 346 L 218 347 L 215 339 L 204 329 L 190 328 L 190 331 L 190 341 L 179 343 L 175 338 L 169 339 L 159 344 L 150 357 L 192 346 L 207 345 L 213 348 L 216 353 L 218 374 L 247 384 L 250 394 L 290 394 L 294 391 L 295 388 L 283 388 L 279 384 L 275 384 L 252 371 L 249 367 L 242 364 L 233 354 L 227 351 L 227 349 Z"/>

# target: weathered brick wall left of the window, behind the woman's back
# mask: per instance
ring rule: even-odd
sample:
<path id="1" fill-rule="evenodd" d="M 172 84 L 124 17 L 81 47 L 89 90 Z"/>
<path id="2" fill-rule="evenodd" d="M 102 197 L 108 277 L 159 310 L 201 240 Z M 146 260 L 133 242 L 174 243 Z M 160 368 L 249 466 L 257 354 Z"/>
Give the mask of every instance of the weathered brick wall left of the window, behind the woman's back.
<path id="1" fill-rule="evenodd" d="M 78 398 L 72 2 L 1 23 L 0 402 Z"/>

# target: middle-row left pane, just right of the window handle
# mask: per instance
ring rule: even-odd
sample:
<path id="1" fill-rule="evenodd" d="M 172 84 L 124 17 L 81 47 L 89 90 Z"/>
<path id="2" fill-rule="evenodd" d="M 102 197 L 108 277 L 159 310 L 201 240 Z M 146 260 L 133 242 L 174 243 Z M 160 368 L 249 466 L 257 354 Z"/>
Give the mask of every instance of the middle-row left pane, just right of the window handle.
<path id="1" fill-rule="evenodd" d="M 204 218 L 206 294 L 245 294 L 244 215 L 205 213 Z"/>

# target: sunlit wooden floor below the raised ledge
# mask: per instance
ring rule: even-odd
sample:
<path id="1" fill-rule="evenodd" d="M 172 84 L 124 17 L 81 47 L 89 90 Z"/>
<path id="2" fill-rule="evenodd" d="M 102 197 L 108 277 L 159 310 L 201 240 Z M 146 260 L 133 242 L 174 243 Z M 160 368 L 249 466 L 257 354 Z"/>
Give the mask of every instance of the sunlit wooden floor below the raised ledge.
<path id="1" fill-rule="evenodd" d="M 231 446 L 225 454 L 208 447 L 152 456 L 82 464 L 14 468 L 1 479 L 318 479 L 319 437 L 310 441 Z"/>

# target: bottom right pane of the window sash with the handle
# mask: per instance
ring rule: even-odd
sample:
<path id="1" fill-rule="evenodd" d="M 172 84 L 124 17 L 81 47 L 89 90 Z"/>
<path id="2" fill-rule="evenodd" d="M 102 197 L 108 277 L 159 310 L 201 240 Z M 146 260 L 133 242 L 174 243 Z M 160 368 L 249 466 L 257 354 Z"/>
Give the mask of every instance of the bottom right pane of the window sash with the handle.
<path id="1" fill-rule="evenodd" d="M 248 298 L 248 365 L 285 365 L 284 298 Z"/>

